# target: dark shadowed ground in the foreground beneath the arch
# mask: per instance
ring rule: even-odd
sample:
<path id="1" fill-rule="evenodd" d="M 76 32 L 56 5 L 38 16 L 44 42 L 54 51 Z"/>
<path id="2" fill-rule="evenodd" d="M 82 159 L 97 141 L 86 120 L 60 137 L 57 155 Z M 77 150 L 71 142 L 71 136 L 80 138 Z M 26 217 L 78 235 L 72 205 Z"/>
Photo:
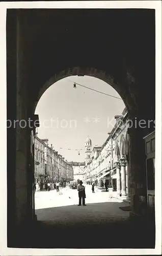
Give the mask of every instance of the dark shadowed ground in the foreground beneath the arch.
<path id="1" fill-rule="evenodd" d="M 154 223 L 130 220 L 124 203 L 94 203 L 36 211 L 33 232 L 19 240 L 20 248 L 154 248 Z M 115 211 L 113 210 L 115 209 Z"/>

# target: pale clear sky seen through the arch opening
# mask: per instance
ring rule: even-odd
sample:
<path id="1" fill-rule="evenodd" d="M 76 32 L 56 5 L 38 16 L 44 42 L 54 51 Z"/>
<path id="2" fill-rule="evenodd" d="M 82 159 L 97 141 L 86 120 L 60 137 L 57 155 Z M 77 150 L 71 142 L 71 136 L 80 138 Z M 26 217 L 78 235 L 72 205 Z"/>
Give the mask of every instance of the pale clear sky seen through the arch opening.
<path id="1" fill-rule="evenodd" d="M 39 100 L 35 112 L 40 120 L 38 137 L 48 138 L 49 145 L 53 144 L 54 149 L 66 160 L 85 161 L 85 150 L 80 151 L 80 155 L 76 150 L 85 146 L 88 136 L 92 146 L 102 145 L 107 133 L 113 129 L 114 116 L 120 115 L 125 105 L 121 99 L 78 85 L 73 89 L 73 82 L 68 79 L 106 94 L 120 96 L 109 84 L 98 78 L 70 76 L 54 83 Z M 90 122 L 85 122 L 84 118 L 87 117 Z M 99 122 L 94 122 L 93 118 L 98 118 Z M 108 120 L 110 124 L 107 124 Z"/>

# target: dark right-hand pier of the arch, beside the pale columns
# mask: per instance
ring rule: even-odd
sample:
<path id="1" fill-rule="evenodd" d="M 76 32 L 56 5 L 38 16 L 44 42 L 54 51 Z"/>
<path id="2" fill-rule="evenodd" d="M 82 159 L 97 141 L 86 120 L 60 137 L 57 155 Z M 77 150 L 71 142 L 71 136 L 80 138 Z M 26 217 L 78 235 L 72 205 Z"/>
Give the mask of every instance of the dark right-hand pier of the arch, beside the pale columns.
<path id="1" fill-rule="evenodd" d="M 134 216 L 134 214 L 135 216 L 141 215 L 147 206 L 145 144 L 142 132 L 142 129 L 139 129 L 139 127 L 128 128 L 130 216 Z"/>

